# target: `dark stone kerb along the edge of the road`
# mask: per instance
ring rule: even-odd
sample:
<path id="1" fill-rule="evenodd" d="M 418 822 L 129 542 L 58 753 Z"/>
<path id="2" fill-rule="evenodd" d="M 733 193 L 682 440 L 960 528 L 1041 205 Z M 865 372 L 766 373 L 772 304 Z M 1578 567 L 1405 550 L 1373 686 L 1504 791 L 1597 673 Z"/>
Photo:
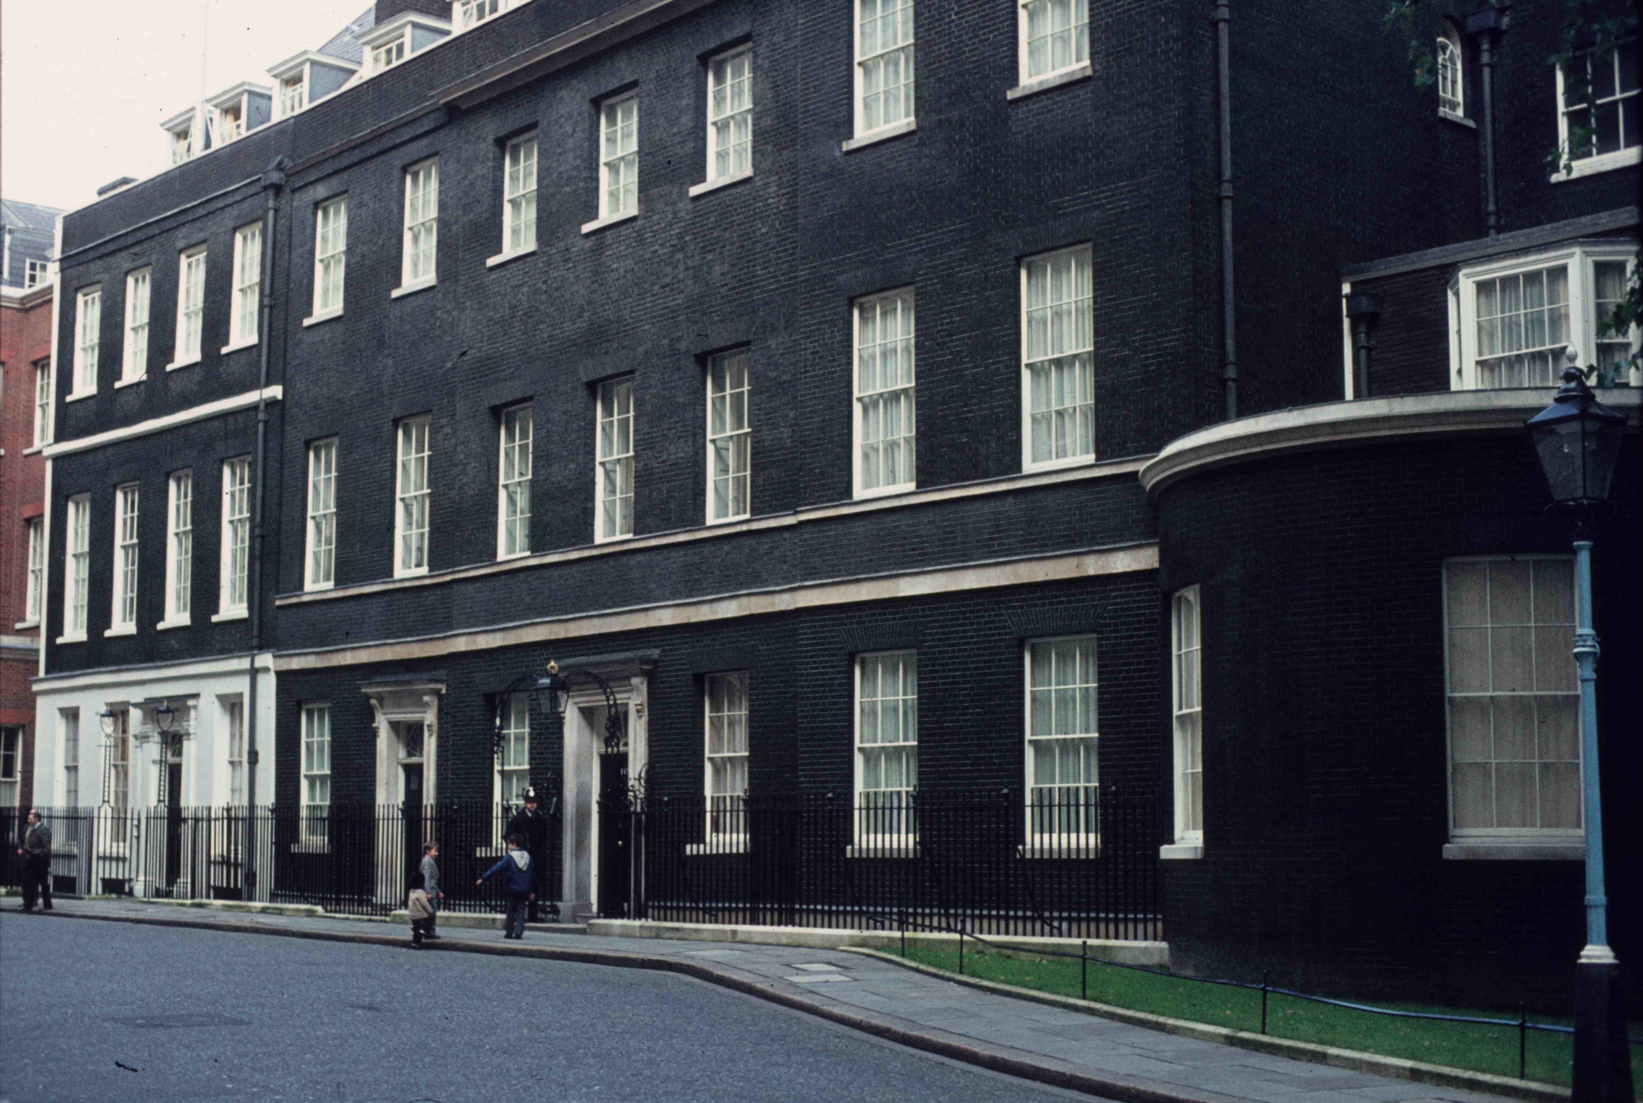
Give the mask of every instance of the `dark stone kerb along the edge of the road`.
<path id="1" fill-rule="evenodd" d="M 54 919 L 94 919 L 99 922 L 127 922 L 133 926 L 145 927 L 187 927 L 196 931 L 227 931 L 232 934 L 269 934 L 276 937 L 288 939 L 309 939 L 314 942 L 353 942 L 360 945 L 386 945 L 396 949 L 407 949 L 409 939 L 389 937 L 386 934 L 352 934 L 343 931 L 302 931 L 299 927 L 274 927 L 260 926 L 251 922 L 235 922 L 235 921 L 209 921 L 209 919 L 182 919 L 171 916 L 99 916 L 84 911 L 54 911 L 51 913 Z M 1084 1095 L 1096 1095 L 1107 1100 L 1117 1100 L 1119 1103 L 1234 1103 L 1239 1096 L 1221 1095 L 1216 1092 L 1191 1092 L 1178 1085 L 1163 1085 L 1155 1080 L 1147 1080 L 1142 1077 L 1124 1077 L 1119 1073 L 1094 1075 L 1078 1065 L 1070 1062 L 1061 1062 L 1053 1057 L 1040 1057 L 1037 1054 L 1025 1054 L 1024 1050 L 999 1049 L 983 1049 L 976 1044 L 958 1041 L 958 1036 L 951 1036 L 945 1031 L 915 1031 L 900 1026 L 900 1019 L 887 1023 L 882 1019 L 874 1019 L 861 1014 L 853 1014 L 848 1011 L 840 1011 L 838 1008 L 826 1006 L 822 1003 L 812 1003 L 803 996 L 797 996 L 785 991 L 777 991 L 769 982 L 754 982 L 744 977 L 736 977 L 725 970 L 715 968 L 702 962 L 682 962 L 670 957 L 656 957 L 651 954 L 626 954 L 618 950 L 577 950 L 562 949 L 554 945 L 495 945 L 490 942 L 467 942 L 463 939 L 444 937 L 437 945 L 424 947 L 427 950 L 442 950 L 447 954 L 488 954 L 493 957 L 532 957 L 539 960 L 554 962 L 577 962 L 582 965 L 610 965 L 614 968 L 647 968 L 654 972 L 679 973 L 682 977 L 693 977 L 695 980 L 706 982 L 710 985 L 718 985 L 720 988 L 729 988 L 731 991 L 739 991 L 757 1000 L 766 1000 L 794 1011 L 803 1011 L 805 1014 L 813 1014 L 820 1019 L 846 1026 L 863 1034 L 871 1034 L 889 1042 L 897 1042 L 899 1046 L 907 1046 L 909 1049 L 917 1049 L 927 1054 L 935 1054 L 938 1057 L 948 1057 L 951 1060 L 960 1060 L 968 1065 L 976 1065 L 979 1069 L 987 1069 L 991 1072 L 1001 1072 L 1010 1077 L 1019 1077 L 1022 1080 L 1032 1080 L 1033 1083 L 1043 1083 L 1055 1088 L 1068 1088 L 1073 1092 L 1081 1092 Z M 863 952 L 863 950 L 851 950 Z M 876 950 L 866 950 L 872 957 L 886 957 L 887 960 L 899 962 L 899 959 L 881 955 Z M 943 977 L 943 980 L 955 980 Z M 1015 993 L 1006 993 L 1015 995 Z M 1043 993 L 1040 993 L 1043 995 Z M 1020 1055 L 1017 1055 L 1020 1054 Z M 1247 1103 L 1247 1101 L 1245 1101 Z"/>

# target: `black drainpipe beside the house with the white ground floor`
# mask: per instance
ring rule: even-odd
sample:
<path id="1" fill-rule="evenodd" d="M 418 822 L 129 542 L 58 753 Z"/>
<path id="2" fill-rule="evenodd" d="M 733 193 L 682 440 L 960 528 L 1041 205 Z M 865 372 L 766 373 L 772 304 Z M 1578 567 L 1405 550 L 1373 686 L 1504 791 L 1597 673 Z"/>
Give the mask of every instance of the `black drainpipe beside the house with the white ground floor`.
<path id="1" fill-rule="evenodd" d="M 245 688 L 245 898 L 256 898 L 256 653 L 263 650 L 263 502 L 268 466 L 268 353 L 274 336 L 274 231 L 279 223 L 279 192 L 286 185 L 286 159 L 263 172 L 263 271 L 256 320 L 256 486 L 251 506 L 250 593 L 251 658 Z"/>

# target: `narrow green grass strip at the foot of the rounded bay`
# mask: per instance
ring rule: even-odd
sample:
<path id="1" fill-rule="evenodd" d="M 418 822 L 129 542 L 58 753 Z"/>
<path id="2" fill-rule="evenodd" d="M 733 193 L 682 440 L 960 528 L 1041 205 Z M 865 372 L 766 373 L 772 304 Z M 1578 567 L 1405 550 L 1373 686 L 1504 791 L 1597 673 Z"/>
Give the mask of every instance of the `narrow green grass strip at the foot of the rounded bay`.
<path id="1" fill-rule="evenodd" d="M 978 952 L 979 950 L 979 952 Z M 909 945 L 907 959 L 958 970 L 958 949 Z M 1037 988 L 1061 996 L 1079 996 L 1078 960 L 996 954 L 964 945 L 964 973 L 1022 988 Z M 1203 982 L 1142 973 L 1091 959 L 1089 998 L 1132 1011 L 1150 1011 L 1176 1019 L 1209 1023 L 1239 1031 L 1260 1031 L 1260 991 L 1206 985 Z M 1467 1011 L 1415 1003 L 1378 1005 L 1395 1011 L 1429 1011 L 1477 1018 L 1513 1018 L 1498 1011 Z M 1569 1019 L 1530 1016 L 1531 1023 L 1567 1026 Z M 1518 1075 L 1516 1026 L 1480 1026 L 1474 1023 L 1438 1023 L 1433 1019 L 1400 1019 L 1349 1008 L 1334 1008 L 1293 996 L 1267 996 L 1267 1032 L 1319 1046 L 1339 1046 L 1385 1057 L 1406 1057 L 1452 1069 Z M 1643 1037 L 1643 1024 L 1631 1024 L 1631 1037 Z M 1569 1034 L 1528 1032 L 1526 1078 L 1567 1085 L 1571 1078 Z M 1643 1046 L 1631 1047 L 1631 1075 L 1643 1085 Z"/>

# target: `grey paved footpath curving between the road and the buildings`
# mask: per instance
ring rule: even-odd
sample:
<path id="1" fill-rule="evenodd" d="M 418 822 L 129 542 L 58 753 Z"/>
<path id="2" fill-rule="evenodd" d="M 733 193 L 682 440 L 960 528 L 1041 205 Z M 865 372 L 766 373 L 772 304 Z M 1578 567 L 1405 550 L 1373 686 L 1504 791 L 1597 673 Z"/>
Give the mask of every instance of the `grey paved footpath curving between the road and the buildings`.
<path id="1" fill-rule="evenodd" d="M 407 942 L 403 927 L 383 922 L 330 916 L 217 913 L 130 899 L 59 899 L 51 918 L 8 918 L 5 931 L 23 922 L 72 919 L 182 926 L 240 936 L 274 934 L 398 949 L 404 949 Z M 580 932 L 560 934 L 550 929 L 532 931 L 522 942 L 504 941 L 499 931 L 473 927 L 444 927 L 442 936 L 435 950 L 682 973 L 925 1054 L 1124 1103 L 1236 1100 L 1498 1103 L 1500 1098 L 1116 1023 L 1086 1011 L 981 991 L 849 950 L 601 937 Z M 411 957 L 411 950 L 396 957 Z M 430 957 L 434 954 L 421 954 L 421 959 Z M 10 983 L 7 986 L 10 988 Z M 664 1095 L 672 1096 L 672 1093 Z M 969 1098 L 994 1096 L 971 1093 Z M 1024 1096 L 1012 1092 L 996 1098 Z"/>

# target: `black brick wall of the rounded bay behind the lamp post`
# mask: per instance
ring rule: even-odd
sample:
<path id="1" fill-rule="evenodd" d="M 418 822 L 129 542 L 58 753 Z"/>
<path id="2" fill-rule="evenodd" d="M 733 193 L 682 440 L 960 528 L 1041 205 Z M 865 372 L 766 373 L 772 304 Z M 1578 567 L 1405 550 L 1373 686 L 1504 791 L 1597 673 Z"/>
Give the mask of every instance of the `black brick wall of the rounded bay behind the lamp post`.
<path id="1" fill-rule="evenodd" d="M 1643 952 L 1643 817 L 1627 781 L 1643 768 L 1627 676 L 1643 658 L 1638 474 L 1633 437 L 1594 583 L 1622 962 Z M 1290 455 L 1163 492 L 1160 593 L 1201 584 L 1204 645 L 1206 844 L 1203 860 L 1163 863 L 1173 965 L 1242 978 L 1270 967 L 1306 991 L 1569 1005 L 1581 863 L 1439 857 L 1443 560 L 1567 553 L 1569 525 L 1541 512 L 1544 494 L 1520 433 Z"/>

